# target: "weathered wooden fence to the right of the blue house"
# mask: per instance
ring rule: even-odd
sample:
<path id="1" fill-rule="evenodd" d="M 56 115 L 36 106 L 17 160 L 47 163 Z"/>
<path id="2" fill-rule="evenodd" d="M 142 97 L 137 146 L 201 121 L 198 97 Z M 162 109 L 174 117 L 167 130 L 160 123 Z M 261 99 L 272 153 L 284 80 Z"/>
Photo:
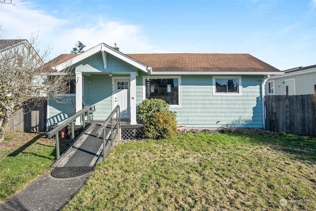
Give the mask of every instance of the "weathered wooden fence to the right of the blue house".
<path id="1" fill-rule="evenodd" d="M 265 97 L 266 129 L 296 135 L 316 135 L 313 95 Z"/>

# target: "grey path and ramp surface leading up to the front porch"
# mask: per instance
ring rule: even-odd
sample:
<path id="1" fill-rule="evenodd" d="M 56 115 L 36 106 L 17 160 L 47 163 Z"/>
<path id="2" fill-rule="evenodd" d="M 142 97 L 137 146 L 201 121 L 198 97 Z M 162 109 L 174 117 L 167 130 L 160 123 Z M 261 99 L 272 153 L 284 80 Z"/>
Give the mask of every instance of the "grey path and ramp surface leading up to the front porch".
<path id="1" fill-rule="evenodd" d="M 0 205 L 0 211 L 60 210 L 85 184 L 91 169 L 102 161 L 103 138 L 95 136 L 99 127 L 95 124 L 89 125 L 53 164 L 54 170 L 60 168 L 59 173 L 68 174 L 68 177 L 55 178 L 51 175 L 54 170 L 46 172 Z M 108 134 L 107 138 L 109 136 Z"/>

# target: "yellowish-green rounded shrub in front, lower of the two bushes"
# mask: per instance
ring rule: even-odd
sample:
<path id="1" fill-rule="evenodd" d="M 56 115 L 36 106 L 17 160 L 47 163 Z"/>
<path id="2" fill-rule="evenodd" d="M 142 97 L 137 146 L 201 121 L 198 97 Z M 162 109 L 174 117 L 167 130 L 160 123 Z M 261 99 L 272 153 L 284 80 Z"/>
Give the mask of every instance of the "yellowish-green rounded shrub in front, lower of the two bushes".
<path id="1" fill-rule="evenodd" d="M 144 124 L 145 137 L 153 139 L 169 138 L 177 134 L 177 125 L 169 114 L 155 113 Z"/>

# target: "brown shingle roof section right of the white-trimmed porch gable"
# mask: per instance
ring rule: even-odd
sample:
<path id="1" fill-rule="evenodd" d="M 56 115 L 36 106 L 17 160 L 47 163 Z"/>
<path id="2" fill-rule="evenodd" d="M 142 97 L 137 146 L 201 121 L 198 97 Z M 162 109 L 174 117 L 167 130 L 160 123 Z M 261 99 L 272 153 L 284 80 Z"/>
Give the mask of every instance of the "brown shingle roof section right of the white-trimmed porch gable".
<path id="1" fill-rule="evenodd" d="M 158 53 L 126 54 L 153 72 L 280 72 L 249 54 Z"/>

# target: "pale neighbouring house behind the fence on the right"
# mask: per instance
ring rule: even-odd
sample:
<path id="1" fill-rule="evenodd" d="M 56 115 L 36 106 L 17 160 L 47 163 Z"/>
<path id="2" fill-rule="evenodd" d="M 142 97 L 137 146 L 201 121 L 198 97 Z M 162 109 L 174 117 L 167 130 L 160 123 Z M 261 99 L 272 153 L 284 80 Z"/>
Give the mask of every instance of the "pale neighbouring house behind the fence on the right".
<path id="1" fill-rule="evenodd" d="M 267 95 L 303 95 L 316 92 L 316 65 L 296 67 L 271 76 L 266 83 Z"/>

